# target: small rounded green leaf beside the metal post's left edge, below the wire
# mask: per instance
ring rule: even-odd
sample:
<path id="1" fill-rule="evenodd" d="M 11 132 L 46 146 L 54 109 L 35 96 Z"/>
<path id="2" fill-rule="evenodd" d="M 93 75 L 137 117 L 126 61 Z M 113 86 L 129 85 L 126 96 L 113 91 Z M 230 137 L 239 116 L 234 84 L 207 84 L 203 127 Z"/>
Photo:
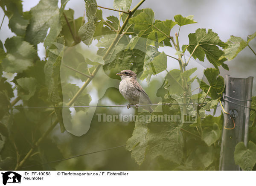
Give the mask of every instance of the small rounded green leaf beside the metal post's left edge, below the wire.
<path id="1" fill-rule="evenodd" d="M 217 141 L 221 136 L 221 130 L 218 128 L 216 123 L 213 123 L 212 127 L 204 128 L 202 132 L 202 140 L 206 142 L 208 146 L 212 145 L 215 141 Z"/>

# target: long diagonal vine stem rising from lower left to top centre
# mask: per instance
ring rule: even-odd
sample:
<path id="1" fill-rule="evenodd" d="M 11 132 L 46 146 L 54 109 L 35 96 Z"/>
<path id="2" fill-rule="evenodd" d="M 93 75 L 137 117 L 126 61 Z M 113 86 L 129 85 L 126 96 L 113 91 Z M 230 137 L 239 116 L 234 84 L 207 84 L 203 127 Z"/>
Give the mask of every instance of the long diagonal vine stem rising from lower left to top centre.
<path id="1" fill-rule="evenodd" d="M 126 17 L 122 27 L 120 28 L 120 30 L 116 33 L 116 38 L 114 39 L 114 41 L 112 42 L 111 46 L 108 48 L 107 52 L 105 53 L 105 55 L 103 56 L 103 60 L 106 59 L 106 57 L 108 56 L 108 54 L 111 52 L 111 50 L 113 49 L 113 47 L 115 46 L 116 42 L 118 41 L 120 34 L 122 34 L 125 26 L 128 23 L 128 20 L 131 18 L 131 16 L 134 14 L 134 12 L 140 7 L 140 5 L 142 5 L 142 3 L 145 0 L 141 0 L 128 14 L 128 16 Z M 102 64 L 98 64 L 96 66 L 96 68 L 93 70 L 92 73 L 92 77 L 94 77 L 96 75 L 96 73 L 99 71 L 100 67 L 102 67 Z M 79 91 L 76 93 L 76 95 L 70 100 L 70 102 L 67 103 L 67 106 L 72 105 L 75 100 L 80 96 L 80 94 L 82 93 L 82 91 L 85 89 L 85 87 L 87 87 L 87 85 L 90 83 L 90 81 L 93 78 L 88 78 L 84 85 L 79 89 Z M 50 116 L 54 113 L 54 111 L 50 114 Z M 53 122 L 53 124 L 47 129 L 47 131 L 44 132 L 44 134 L 37 140 L 37 142 L 35 142 L 35 144 L 33 145 L 33 147 L 29 150 L 29 152 L 26 154 L 26 156 L 23 158 L 23 160 L 20 161 L 19 164 L 16 165 L 15 170 L 20 169 L 23 164 L 26 162 L 26 160 L 29 159 L 29 157 L 31 156 L 32 152 L 34 151 L 34 149 L 36 147 L 38 147 L 38 145 L 44 140 L 44 138 L 47 137 L 47 135 L 52 131 L 53 128 L 55 128 L 55 126 L 58 124 L 58 119 L 55 119 L 55 121 Z"/>

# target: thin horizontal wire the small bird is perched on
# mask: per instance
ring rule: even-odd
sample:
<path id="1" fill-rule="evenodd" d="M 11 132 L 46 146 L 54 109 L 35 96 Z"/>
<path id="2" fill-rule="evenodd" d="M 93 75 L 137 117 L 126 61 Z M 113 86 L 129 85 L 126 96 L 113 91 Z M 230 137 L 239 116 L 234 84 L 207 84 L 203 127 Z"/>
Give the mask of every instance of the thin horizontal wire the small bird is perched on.
<path id="1" fill-rule="evenodd" d="M 198 103 L 195 103 L 198 105 Z M 200 103 L 201 104 L 201 103 Z M 203 103 L 203 104 L 207 104 Z M 162 103 L 162 104 L 148 104 L 148 105 L 129 105 L 130 107 L 140 107 L 140 106 L 154 106 L 154 105 L 193 105 L 193 103 Z M 127 107 L 128 105 L 86 105 L 86 106 L 45 106 L 45 107 L 16 107 L 14 108 L 95 108 L 95 107 Z"/>

